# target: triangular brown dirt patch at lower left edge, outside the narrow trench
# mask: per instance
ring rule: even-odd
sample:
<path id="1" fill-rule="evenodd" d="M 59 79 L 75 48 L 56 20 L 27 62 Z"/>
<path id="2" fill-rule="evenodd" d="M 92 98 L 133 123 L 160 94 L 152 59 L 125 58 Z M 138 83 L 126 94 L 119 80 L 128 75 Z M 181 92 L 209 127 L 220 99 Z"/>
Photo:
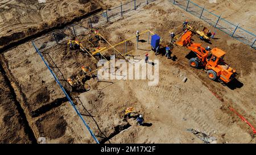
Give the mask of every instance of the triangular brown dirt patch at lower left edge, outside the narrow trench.
<path id="1" fill-rule="evenodd" d="M 31 143 L 25 129 L 22 116 L 19 114 L 19 110 L 16 104 L 19 104 L 10 87 L 6 83 L 6 79 L 0 74 L 0 143 Z"/>

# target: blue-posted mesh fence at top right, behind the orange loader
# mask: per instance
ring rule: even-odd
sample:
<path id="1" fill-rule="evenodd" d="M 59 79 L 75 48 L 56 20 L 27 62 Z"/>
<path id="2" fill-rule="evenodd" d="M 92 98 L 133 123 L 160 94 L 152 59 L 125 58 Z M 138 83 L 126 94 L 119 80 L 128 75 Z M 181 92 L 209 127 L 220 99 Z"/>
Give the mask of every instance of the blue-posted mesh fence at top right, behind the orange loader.
<path id="1" fill-rule="evenodd" d="M 242 43 L 250 45 L 250 47 L 256 49 L 256 35 L 239 27 L 239 24 L 233 24 L 232 22 L 221 18 L 221 15 L 213 14 L 204 7 L 201 7 L 189 0 L 172 0 L 172 3 L 191 13 L 192 15 L 203 19 L 214 28 L 218 28 L 218 30 L 221 30 L 229 36 L 234 37 L 234 39 L 237 39 L 238 41 L 241 41 Z"/>

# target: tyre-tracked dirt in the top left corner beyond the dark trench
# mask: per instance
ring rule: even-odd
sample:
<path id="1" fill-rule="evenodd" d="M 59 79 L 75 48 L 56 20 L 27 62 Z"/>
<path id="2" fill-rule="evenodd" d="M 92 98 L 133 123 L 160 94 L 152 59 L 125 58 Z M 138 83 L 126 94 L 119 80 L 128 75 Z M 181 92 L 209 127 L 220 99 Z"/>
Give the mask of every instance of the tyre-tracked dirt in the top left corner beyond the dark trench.
<path id="1" fill-rule="evenodd" d="M 0 48 L 104 7 L 101 1 L 1 1 Z"/>

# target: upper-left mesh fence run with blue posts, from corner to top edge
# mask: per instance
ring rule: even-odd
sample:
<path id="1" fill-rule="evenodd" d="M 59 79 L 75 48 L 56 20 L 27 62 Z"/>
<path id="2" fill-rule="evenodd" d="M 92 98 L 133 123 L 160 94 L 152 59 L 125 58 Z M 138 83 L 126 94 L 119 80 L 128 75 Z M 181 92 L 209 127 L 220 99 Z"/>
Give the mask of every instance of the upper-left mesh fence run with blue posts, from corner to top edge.
<path id="1" fill-rule="evenodd" d="M 139 9 L 139 7 L 146 6 L 156 0 L 132 0 L 127 3 L 120 3 L 120 6 L 104 10 L 89 18 L 83 19 L 76 24 L 65 27 L 62 30 L 56 30 L 34 40 L 38 49 L 43 52 L 56 44 L 61 44 L 72 36 L 86 35 L 91 31 L 91 28 L 98 28 L 108 22 L 114 22 L 121 19 L 126 14 Z"/>

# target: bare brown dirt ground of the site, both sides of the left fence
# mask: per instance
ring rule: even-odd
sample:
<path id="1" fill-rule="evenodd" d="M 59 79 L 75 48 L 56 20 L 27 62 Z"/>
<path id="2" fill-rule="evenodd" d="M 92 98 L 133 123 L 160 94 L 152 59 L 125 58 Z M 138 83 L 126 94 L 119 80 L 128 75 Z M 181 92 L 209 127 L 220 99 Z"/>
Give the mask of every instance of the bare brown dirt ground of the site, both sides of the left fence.
<path id="1" fill-rule="evenodd" d="M 115 3 L 118 2 L 109 1 L 109 5 Z M 185 19 L 189 19 L 194 30 L 204 26 L 211 28 L 203 20 L 163 0 L 139 8 L 130 16 L 102 26 L 99 31 L 114 45 L 134 36 L 137 30 L 150 30 L 162 38 L 160 44 L 164 47 L 170 40 L 168 31 Z M 93 36 L 92 33 L 77 37 L 89 51 L 98 46 L 110 46 L 105 41 L 94 40 L 94 37 L 90 40 L 90 36 Z M 176 57 L 175 60 L 167 59 L 162 53 L 155 55 L 147 43 L 147 34 L 141 35 L 141 40 L 146 41 L 139 43 L 139 49 L 135 48 L 135 39 L 129 42 L 127 51 L 132 51 L 130 55 L 134 59 L 125 58 L 130 58 L 130 62 L 136 64 L 144 61 L 144 54 L 148 52 L 151 64 L 159 60 L 157 86 L 148 86 L 147 80 L 97 82 L 97 78 L 88 77 L 86 83 L 90 85 L 89 91 L 72 90 L 67 78 L 79 74 L 82 65 L 96 69 L 93 58 L 85 52 L 70 50 L 66 41 L 45 50 L 43 56 L 101 143 L 203 143 L 188 132 L 191 128 L 216 137 L 217 143 L 256 143 L 249 125 L 228 109 L 232 106 L 256 126 L 256 99 L 253 94 L 256 88 L 255 50 L 221 31 L 217 32 L 211 44 L 201 41 L 197 35 L 193 35 L 192 39 L 204 47 L 217 46 L 224 50 L 225 61 L 238 72 L 237 80 L 227 86 L 210 81 L 204 70 L 188 65 L 186 57 L 189 50 L 184 47 L 171 45 L 171 56 Z M 123 47 L 123 44 L 118 46 L 118 50 L 122 52 Z M 109 51 L 102 54 L 108 60 Z M 30 133 L 34 139 L 45 137 L 46 143 L 95 143 L 31 42 L 2 53 L 1 65 L 16 94 L 17 101 L 13 101 L 14 108 L 11 109 L 15 109 L 15 102 L 18 102 L 27 119 L 25 125 L 16 122 L 20 116 L 14 110 L 16 115 L 11 119 L 13 123 L 8 124 L 20 132 L 20 137 L 17 139 L 10 134 L 0 140 L 2 143 L 31 143 L 31 136 L 23 132 L 26 127 L 32 129 Z M 184 77 L 188 78 L 187 82 L 182 81 Z M 6 92 L 12 91 L 4 79 L 2 85 Z M 10 97 L 7 100 L 13 100 L 11 95 L 2 92 L 1 98 Z M 5 105 L 5 102 L 1 102 L 1 105 Z M 139 126 L 134 119 L 124 118 L 124 111 L 129 106 L 143 114 L 146 125 Z M 9 111 L 2 111 L 9 116 Z M 5 115 L 1 115 L 1 118 L 4 120 Z M 2 120 L 1 123 L 4 122 Z M 7 133 L 1 131 L 2 135 Z"/>

